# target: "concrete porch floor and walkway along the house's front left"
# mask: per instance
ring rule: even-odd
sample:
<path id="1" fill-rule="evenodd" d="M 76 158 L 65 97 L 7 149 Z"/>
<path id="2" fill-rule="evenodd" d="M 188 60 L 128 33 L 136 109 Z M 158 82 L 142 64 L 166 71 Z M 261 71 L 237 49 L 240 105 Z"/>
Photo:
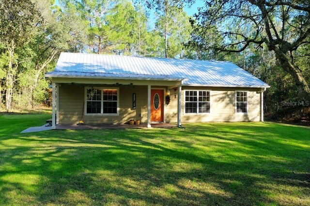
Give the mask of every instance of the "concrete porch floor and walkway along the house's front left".
<path id="1" fill-rule="evenodd" d="M 51 130 L 51 126 L 46 126 L 47 124 L 41 127 L 31 127 L 20 133 L 26 132 L 41 132 Z M 159 123 L 159 124 L 151 124 L 152 128 L 173 128 L 176 127 L 175 124 L 169 123 Z M 59 124 L 56 125 L 56 130 L 79 130 L 79 129 L 141 129 L 147 128 L 146 124 L 140 125 L 129 125 L 129 124 Z"/>

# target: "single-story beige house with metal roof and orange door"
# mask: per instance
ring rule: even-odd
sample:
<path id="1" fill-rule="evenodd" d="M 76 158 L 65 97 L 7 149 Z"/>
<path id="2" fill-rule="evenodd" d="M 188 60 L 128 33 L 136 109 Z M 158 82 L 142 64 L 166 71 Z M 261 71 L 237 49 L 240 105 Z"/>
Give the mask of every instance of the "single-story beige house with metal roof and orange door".
<path id="1" fill-rule="evenodd" d="M 228 61 L 61 53 L 52 79 L 56 124 L 263 121 L 269 86 Z M 56 96 L 57 94 L 57 96 Z"/>

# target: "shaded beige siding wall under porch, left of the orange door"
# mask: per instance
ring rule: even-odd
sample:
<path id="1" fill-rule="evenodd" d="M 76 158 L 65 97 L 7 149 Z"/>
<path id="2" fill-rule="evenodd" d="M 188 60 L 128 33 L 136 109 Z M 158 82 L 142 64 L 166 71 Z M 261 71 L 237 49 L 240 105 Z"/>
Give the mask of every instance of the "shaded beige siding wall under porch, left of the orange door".
<path id="1" fill-rule="evenodd" d="M 59 124 L 75 124 L 82 119 L 85 86 L 61 84 L 59 90 Z M 106 88 L 106 86 L 98 86 Z M 119 116 L 83 115 L 88 124 L 122 124 L 129 119 L 147 122 L 147 86 L 119 86 Z M 132 95 L 136 93 L 136 109 L 133 109 Z"/>

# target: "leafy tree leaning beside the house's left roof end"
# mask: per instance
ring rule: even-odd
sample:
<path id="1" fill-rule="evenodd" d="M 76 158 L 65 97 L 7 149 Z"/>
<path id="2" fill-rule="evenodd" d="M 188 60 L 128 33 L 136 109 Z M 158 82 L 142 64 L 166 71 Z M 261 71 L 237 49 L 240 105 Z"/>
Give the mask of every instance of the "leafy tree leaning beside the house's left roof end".
<path id="1" fill-rule="evenodd" d="M 32 108 L 45 97 L 48 83 L 43 74 L 49 67 L 54 66 L 54 60 L 60 52 L 78 51 L 84 47 L 83 30 L 86 29 L 74 10 L 61 11 L 58 6 L 53 6 L 50 0 L 37 0 L 35 6 L 43 20 L 33 29 L 33 37 L 22 49 L 24 52 L 21 58 L 25 59 L 24 62 L 28 59 L 29 63 L 23 67 L 25 70 L 18 78 L 18 86 L 25 91 L 23 96 Z"/>

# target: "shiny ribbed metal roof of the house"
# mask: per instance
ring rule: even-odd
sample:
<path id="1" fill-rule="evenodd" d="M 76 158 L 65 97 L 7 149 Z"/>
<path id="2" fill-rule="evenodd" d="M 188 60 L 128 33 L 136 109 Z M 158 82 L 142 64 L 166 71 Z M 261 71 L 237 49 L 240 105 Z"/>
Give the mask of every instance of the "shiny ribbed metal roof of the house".
<path id="1" fill-rule="evenodd" d="M 184 86 L 269 86 L 228 61 L 145 58 L 119 55 L 61 53 L 47 77 L 185 80 Z"/>

